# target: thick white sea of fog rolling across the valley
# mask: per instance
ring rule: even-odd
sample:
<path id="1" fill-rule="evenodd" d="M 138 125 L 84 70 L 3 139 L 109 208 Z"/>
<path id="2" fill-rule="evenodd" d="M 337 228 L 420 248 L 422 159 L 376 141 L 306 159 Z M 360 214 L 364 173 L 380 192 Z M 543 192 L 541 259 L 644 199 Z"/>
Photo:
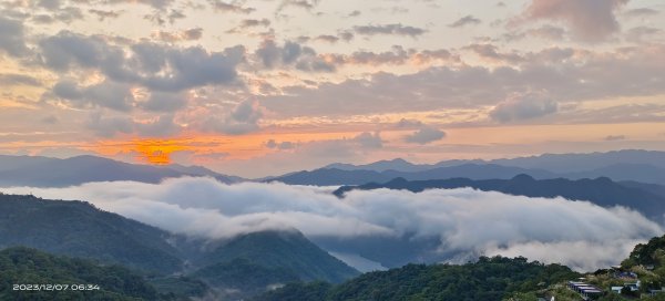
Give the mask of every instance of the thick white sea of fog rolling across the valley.
<path id="1" fill-rule="evenodd" d="M 208 178 L 162 184 L 91 183 L 69 188 L 3 188 L 51 199 L 83 199 L 173 232 L 228 238 L 297 228 L 307 237 L 430 238 L 441 260 L 479 255 L 528 256 L 595 270 L 616 264 L 663 228 L 625 208 L 463 189 L 351 191 Z M 361 241 L 362 241 L 361 240 Z M 411 241 L 411 240 L 407 240 Z M 406 242 L 411 243 L 411 242 Z"/>

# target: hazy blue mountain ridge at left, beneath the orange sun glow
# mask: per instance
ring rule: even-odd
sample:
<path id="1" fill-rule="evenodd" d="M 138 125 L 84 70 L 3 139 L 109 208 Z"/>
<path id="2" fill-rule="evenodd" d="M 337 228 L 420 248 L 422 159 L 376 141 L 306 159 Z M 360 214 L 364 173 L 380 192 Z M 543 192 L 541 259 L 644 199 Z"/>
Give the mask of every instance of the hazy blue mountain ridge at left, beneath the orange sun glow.
<path id="1" fill-rule="evenodd" d="M 0 187 L 63 187 L 110 180 L 160 183 L 165 178 L 183 176 L 209 176 L 223 183 L 242 180 L 239 177 L 217 174 L 200 166 L 139 165 L 95 156 L 59 159 L 0 155 Z"/>

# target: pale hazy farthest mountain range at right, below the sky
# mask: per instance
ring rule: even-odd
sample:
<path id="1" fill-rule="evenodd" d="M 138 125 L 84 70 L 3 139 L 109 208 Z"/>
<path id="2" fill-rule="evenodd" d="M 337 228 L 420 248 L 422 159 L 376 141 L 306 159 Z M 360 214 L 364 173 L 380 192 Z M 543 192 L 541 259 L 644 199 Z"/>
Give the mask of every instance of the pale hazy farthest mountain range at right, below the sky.
<path id="1" fill-rule="evenodd" d="M 594 154 L 542 155 L 497 160 L 447 160 L 417 165 L 403 159 L 368 165 L 332 164 L 311 172 L 267 178 L 291 185 L 362 185 L 395 178 L 428 180 L 448 178 L 510 179 L 526 174 L 536 179 L 598 178 L 665 185 L 665 152 L 621 150 Z"/>

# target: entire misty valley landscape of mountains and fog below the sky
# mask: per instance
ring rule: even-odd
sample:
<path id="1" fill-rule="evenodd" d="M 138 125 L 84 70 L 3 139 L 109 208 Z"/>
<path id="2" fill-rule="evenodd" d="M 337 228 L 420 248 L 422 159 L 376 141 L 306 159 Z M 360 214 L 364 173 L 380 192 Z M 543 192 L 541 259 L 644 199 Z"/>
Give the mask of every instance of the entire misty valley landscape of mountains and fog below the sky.
<path id="1" fill-rule="evenodd" d="M 0 156 L 0 299 L 662 300 L 665 180 L 648 170 L 665 153 L 254 180 Z"/>

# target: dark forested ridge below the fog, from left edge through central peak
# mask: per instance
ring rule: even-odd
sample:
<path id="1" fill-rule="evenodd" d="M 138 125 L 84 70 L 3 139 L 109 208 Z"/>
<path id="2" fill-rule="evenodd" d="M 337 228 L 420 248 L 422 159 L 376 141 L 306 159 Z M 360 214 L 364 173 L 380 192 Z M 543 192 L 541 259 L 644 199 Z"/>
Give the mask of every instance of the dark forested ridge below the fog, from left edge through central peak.
<path id="1" fill-rule="evenodd" d="M 223 298 L 231 299 L 243 299 L 285 281 L 337 283 L 359 274 L 297 230 L 197 239 L 168 233 L 83 201 L 0 194 L 0 249 L 19 246 L 152 274 L 187 274 L 228 292 Z M 176 280 L 156 283 L 175 281 L 183 286 Z"/>

